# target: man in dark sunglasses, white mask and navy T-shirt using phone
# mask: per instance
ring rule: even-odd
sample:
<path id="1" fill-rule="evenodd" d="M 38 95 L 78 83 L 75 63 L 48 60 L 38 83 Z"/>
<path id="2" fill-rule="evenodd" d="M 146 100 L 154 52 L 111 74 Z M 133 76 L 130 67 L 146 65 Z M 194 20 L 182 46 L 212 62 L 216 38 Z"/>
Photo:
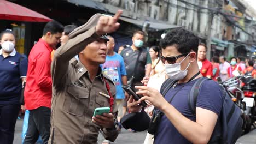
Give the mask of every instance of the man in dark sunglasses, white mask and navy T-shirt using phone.
<path id="1" fill-rule="evenodd" d="M 142 100 L 148 100 L 163 112 L 154 135 L 154 143 L 208 143 L 222 109 L 222 91 L 218 83 L 207 80 L 202 83 L 196 113 L 189 109 L 188 93 L 193 84 L 202 77 L 197 64 L 199 38 L 192 32 L 177 28 L 168 32 L 160 40 L 162 61 L 170 79 L 177 82 L 168 90 L 165 97 L 154 88 L 136 86 L 142 94 L 138 101 L 129 99 L 130 112 L 138 112 Z M 172 101 L 170 102 L 170 99 Z"/>

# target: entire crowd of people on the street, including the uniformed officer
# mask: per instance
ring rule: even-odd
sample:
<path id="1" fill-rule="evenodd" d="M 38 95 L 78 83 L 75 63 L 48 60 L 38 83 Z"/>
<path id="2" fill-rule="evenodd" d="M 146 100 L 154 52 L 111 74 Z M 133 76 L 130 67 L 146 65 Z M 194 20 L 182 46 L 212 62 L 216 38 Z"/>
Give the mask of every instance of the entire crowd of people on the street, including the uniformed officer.
<path id="1" fill-rule="evenodd" d="M 249 73 L 256 78 L 254 61 L 243 63 L 240 57 L 232 57 L 228 62 L 224 56 L 213 56 L 210 62 L 207 46 L 183 28 L 168 32 L 149 50 L 144 47 L 145 33 L 136 31 L 131 46 L 114 52 L 115 39 L 105 34 L 119 28 L 121 13 L 95 14 L 80 27 L 48 22 L 28 58 L 16 52 L 12 31 L 0 34 L 1 143 L 13 142 L 20 109 L 30 112 L 23 143 L 35 143 L 39 136 L 43 143 L 97 143 L 99 133 L 106 139 L 103 143 L 110 143 L 121 131 L 121 118 L 141 111 L 142 100 L 150 117 L 156 109 L 164 114 L 156 134 L 147 134 L 145 144 L 212 140 L 223 101 L 214 81 Z M 187 95 L 200 77 L 213 81 L 201 86 L 193 113 Z M 168 78 L 175 83 L 161 95 Z M 25 106 L 20 105 L 24 82 Z M 144 97 L 133 100 L 123 85 Z M 110 112 L 93 116 L 97 107 L 110 107 Z"/>

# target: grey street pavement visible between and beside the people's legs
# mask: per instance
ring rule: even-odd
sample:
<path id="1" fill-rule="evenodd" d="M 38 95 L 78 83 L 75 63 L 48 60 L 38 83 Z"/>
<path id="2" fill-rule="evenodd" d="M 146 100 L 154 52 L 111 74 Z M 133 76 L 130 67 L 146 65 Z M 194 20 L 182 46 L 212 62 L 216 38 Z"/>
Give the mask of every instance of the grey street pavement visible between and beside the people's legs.
<path id="1" fill-rule="evenodd" d="M 23 119 L 19 119 L 16 122 L 15 127 L 15 135 L 14 135 L 14 144 L 21 144 L 21 133 L 22 133 L 22 124 Z M 112 142 L 112 144 L 142 144 L 144 142 L 144 139 L 147 135 L 147 131 L 142 132 L 131 132 L 129 130 L 122 129 L 119 136 L 117 137 L 117 140 L 115 142 Z M 98 143 L 101 144 L 103 141 L 103 136 L 99 135 L 98 137 Z M 236 144 L 255 144 L 256 143 L 256 129 L 252 130 L 250 133 L 241 136 Z"/>

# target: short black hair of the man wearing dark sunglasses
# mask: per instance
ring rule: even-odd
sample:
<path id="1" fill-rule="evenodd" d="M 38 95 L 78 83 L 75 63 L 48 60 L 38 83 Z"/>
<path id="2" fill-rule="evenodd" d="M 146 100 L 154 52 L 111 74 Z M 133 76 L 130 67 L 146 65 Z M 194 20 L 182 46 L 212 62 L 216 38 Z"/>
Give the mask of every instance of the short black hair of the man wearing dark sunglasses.
<path id="1" fill-rule="evenodd" d="M 164 39 L 160 40 L 160 47 L 175 46 L 178 52 L 187 53 L 194 51 L 197 55 L 199 37 L 184 28 L 176 28 L 168 32 Z"/>

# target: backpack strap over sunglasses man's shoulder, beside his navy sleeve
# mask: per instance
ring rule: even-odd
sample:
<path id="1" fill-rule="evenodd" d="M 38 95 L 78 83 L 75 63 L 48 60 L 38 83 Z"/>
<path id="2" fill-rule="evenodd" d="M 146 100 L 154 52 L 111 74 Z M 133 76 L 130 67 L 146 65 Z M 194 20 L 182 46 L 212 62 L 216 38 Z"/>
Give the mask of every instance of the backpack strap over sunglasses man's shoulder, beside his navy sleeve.
<path id="1" fill-rule="evenodd" d="M 195 115 L 196 100 L 197 100 L 197 95 L 199 93 L 199 89 L 202 86 L 202 83 L 206 80 L 211 80 L 211 79 L 207 77 L 199 77 L 188 93 L 189 109 L 194 113 L 194 115 Z"/>

